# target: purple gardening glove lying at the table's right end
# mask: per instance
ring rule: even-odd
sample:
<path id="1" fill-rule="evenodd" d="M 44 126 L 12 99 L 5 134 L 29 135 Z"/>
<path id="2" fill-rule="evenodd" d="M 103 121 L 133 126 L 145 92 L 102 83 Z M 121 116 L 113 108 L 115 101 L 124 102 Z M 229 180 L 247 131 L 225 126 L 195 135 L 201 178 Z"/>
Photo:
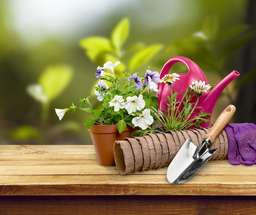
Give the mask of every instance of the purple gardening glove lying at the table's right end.
<path id="1" fill-rule="evenodd" d="M 229 140 L 228 157 L 233 165 L 256 164 L 256 125 L 253 123 L 228 123 L 225 127 Z"/>

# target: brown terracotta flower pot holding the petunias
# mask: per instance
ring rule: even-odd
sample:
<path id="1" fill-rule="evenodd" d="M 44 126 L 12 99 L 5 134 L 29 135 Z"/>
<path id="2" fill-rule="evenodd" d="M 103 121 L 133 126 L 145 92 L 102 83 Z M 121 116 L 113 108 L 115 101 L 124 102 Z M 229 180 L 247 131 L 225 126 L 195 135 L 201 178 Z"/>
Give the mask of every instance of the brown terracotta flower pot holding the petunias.
<path id="1" fill-rule="evenodd" d="M 89 132 L 99 164 L 102 166 L 115 166 L 113 150 L 115 141 L 130 137 L 134 131 L 135 129 L 127 126 L 124 132 L 119 134 L 117 125 L 93 125 Z"/>

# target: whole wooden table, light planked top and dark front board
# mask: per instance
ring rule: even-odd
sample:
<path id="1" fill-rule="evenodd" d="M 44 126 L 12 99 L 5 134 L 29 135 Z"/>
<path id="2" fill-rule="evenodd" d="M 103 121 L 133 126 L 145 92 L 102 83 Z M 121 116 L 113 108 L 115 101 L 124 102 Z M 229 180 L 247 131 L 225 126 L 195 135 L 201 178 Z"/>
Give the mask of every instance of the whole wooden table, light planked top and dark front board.
<path id="1" fill-rule="evenodd" d="M 0 214 L 251 214 L 256 166 L 209 161 L 184 184 L 167 168 L 120 175 L 93 146 L 0 146 Z"/>

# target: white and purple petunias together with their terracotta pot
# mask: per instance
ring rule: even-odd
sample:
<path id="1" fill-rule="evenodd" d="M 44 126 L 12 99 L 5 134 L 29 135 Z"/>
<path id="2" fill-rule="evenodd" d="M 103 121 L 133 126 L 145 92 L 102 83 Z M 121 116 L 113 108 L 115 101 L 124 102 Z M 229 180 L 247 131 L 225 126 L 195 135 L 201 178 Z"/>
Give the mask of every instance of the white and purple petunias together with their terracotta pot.
<path id="1" fill-rule="evenodd" d="M 115 64 L 108 61 L 103 67 L 97 68 L 95 77 L 99 81 L 94 93 L 101 102 L 99 109 L 92 107 L 90 96 L 81 99 L 79 106 L 72 103 L 69 108 L 55 109 L 60 120 L 70 110 L 75 112 L 79 109 L 92 114 L 93 117 L 85 124 L 91 134 L 98 161 L 105 166 L 115 165 L 113 147 L 116 140 L 130 137 L 135 130 L 151 130 L 155 116 L 150 110 L 158 108 L 158 99 L 150 92 L 158 92 L 159 73 L 147 69 L 145 76 L 140 78 L 137 73 L 123 72 L 125 80 L 115 75 L 114 68 L 119 64 L 119 61 Z"/>

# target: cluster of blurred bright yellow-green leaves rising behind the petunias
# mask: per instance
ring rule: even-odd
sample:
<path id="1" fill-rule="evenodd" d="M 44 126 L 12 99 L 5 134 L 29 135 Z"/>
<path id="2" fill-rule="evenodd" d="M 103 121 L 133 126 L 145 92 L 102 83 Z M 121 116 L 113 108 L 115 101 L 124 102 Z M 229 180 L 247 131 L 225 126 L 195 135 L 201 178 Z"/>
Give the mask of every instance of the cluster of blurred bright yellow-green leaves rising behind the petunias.
<path id="1" fill-rule="evenodd" d="M 124 18 L 113 29 L 109 39 L 100 36 L 88 37 L 82 39 L 80 45 L 85 49 L 85 54 L 88 58 L 96 65 L 103 65 L 107 61 L 120 61 L 122 66 L 115 71 L 120 76 L 121 71 L 127 71 L 129 69 L 132 72 L 147 63 L 163 47 L 160 44 L 145 46 L 144 44 L 139 43 L 138 45 L 137 43 L 132 45 L 131 49 L 124 49 L 124 44 L 128 40 L 129 33 L 130 21 L 128 18 Z M 132 54 L 128 63 L 129 68 L 124 63 L 127 59 L 127 54 Z"/>

